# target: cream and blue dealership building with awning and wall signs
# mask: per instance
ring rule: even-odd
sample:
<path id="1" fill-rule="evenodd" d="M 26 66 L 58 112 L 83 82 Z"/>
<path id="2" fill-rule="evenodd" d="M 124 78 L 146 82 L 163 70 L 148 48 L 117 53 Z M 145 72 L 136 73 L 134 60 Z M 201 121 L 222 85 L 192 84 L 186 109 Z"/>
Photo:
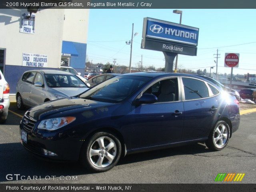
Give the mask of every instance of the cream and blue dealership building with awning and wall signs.
<path id="1" fill-rule="evenodd" d="M 0 9 L 0 70 L 16 93 L 27 70 L 73 67 L 84 74 L 88 9 Z"/>

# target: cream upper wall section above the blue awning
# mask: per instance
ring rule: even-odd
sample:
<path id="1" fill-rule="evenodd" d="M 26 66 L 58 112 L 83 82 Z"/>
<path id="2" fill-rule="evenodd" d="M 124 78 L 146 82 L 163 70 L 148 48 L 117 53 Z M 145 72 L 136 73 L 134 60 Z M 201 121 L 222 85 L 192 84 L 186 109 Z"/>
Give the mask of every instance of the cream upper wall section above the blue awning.
<path id="1" fill-rule="evenodd" d="M 87 43 L 89 9 L 65 9 L 63 40 Z"/>

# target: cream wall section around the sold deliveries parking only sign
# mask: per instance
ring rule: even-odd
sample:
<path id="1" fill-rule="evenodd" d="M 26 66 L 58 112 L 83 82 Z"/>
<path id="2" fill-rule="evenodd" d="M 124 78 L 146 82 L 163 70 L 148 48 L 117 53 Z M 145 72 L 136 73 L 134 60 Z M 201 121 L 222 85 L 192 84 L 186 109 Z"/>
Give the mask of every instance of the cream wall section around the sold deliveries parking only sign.
<path id="1" fill-rule="evenodd" d="M 21 15 L 27 10 L 0 9 L 0 48 L 6 48 L 6 65 L 22 65 L 22 53 L 48 55 L 48 67 L 61 60 L 64 9 L 36 13 L 35 34 L 20 33 Z"/>

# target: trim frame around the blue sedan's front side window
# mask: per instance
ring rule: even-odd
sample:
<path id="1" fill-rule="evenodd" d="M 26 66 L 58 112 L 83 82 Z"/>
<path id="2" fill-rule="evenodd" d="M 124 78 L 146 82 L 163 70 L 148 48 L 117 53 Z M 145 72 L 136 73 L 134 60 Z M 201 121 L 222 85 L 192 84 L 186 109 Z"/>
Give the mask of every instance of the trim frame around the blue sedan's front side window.
<path id="1" fill-rule="evenodd" d="M 162 80 L 166 80 L 166 79 L 174 79 L 176 78 L 178 80 L 178 100 L 177 101 L 167 101 L 167 102 L 155 102 L 155 103 L 151 103 L 151 104 L 142 104 L 142 105 L 152 105 L 152 104 L 163 104 L 163 103 L 174 103 L 174 102 L 182 102 L 182 92 L 180 90 L 180 78 L 179 76 L 169 76 L 169 77 L 163 77 L 163 78 L 160 78 L 160 79 L 157 79 L 155 81 L 153 81 L 152 83 L 150 83 L 148 86 L 146 86 L 146 88 L 144 88 L 139 94 L 138 96 L 136 96 L 136 98 L 133 100 L 133 102 L 135 102 L 135 100 L 139 99 L 142 94 L 148 89 L 150 88 L 152 85 L 156 84 L 157 82 L 159 81 L 162 81 Z"/>

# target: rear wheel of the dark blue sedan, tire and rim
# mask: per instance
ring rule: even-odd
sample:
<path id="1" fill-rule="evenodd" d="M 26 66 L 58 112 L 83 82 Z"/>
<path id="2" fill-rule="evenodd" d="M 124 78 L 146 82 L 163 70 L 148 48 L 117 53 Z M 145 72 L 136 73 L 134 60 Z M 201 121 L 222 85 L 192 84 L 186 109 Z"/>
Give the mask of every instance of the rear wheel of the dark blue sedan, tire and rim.
<path id="1" fill-rule="evenodd" d="M 225 121 L 218 121 L 205 144 L 211 150 L 220 151 L 228 144 L 229 137 L 229 125 Z"/>

